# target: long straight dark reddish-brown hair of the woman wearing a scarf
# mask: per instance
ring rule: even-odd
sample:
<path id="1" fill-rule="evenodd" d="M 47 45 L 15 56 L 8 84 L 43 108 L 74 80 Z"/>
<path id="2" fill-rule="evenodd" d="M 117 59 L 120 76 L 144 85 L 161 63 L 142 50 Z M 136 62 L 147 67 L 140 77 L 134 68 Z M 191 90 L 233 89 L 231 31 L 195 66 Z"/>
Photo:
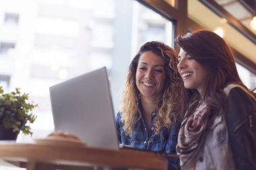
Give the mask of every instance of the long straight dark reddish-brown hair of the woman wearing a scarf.
<path id="1" fill-rule="evenodd" d="M 210 77 L 203 96 L 200 96 L 195 89 L 187 89 L 191 96 L 189 103 L 197 105 L 196 101 L 201 98 L 208 105 L 222 109 L 226 99 L 223 91 L 226 85 L 236 83 L 245 87 L 238 76 L 230 48 L 218 34 L 202 30 L 188 33 L 185 36 L 178 36 L 175 38 L 175 42 L 200 65 L 210 70 Z M 249 91 L 249 89 L 247 90 Z M 249 91 L 249 93 L 251 92 Z"/>

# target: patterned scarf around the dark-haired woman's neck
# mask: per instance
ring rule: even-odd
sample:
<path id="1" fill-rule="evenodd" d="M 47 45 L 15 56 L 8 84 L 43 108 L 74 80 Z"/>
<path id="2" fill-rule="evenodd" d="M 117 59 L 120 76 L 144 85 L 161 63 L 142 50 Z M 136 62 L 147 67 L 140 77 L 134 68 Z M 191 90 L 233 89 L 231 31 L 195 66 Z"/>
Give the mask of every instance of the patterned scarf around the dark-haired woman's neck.
<path id="1" fill-rule="evenodd" d="M 205 128 L 210 111 L 210 107 L 206 103 L 199 103 L 197 110 L 183 120 L 177 144 L 181 169 L 193 169 L 195 166 L 197 155 L 205 142 Z"/>

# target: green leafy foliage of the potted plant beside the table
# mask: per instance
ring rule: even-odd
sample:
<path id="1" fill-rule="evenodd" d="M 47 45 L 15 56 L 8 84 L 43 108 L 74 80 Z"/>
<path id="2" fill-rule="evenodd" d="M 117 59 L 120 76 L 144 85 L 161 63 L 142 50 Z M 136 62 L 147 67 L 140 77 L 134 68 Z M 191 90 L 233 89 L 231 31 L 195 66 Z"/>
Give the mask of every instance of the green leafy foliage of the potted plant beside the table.
<path id="1" fill-rule="evenodd" d="M 37 104 L 28 101 L 28 93 L 20 93 L 20 88 L 11 93 L 3 93 L 0 86 L 0 124 L 6 129 L 12 129 L 13 132 L 21 130 L 24 134 L 32 136 L 31 128 L 26 123 L 36 120 L 36 116 L 32 114 L 36 107 Z"/>

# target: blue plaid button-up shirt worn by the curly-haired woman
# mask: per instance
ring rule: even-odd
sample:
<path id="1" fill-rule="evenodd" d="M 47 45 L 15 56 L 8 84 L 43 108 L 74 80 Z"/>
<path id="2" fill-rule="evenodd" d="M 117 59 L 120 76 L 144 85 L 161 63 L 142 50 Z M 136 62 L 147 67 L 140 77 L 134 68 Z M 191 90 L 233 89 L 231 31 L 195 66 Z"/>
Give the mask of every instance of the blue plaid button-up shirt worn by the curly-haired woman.
<path id="1" fill-rule="evenodd" d="M 119 134 L 119 144 L 127 144 L 133 148 L 138 148 L 146 151 L 156 151 L 166 154 L 176 154 L 177 138 L 179 134 L 179 128 L 181 123 L 177 123 L 171 129 L 162 128 L 160 134 L 154 132 L 154 118 L 156 118 L 156 112 L 151 114 L 151 131 L 150 135 L 146 129 L 146 125 L 143 119 L 139 119 L 131 135 L 125 134 L 123 129 L 123 123 L 121 122 L 121 114 L 118 113 L 116 117 L 117 132 Z M 137 114 L 137 119 L 139 115 Z M 179 169 L 179 158 L 168 159 L 168 169 Z M 172 165 L 172 166 L 170 166 Z M 175 167 L 175 168 L 174 168 Z"/>

